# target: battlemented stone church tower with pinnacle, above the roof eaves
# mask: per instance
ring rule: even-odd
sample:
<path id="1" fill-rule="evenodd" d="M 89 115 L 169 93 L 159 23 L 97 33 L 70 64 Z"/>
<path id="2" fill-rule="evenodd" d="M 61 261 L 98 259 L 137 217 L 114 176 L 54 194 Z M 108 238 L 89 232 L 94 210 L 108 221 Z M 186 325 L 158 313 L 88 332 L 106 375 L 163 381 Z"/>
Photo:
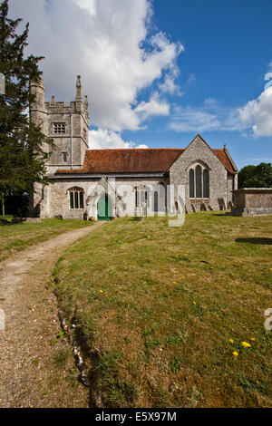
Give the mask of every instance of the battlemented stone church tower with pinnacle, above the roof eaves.
<path id="1" fill-rule="evenodd" d="M 35 102 L 30 111 L 31 121 L 41 125 L 45 136 L 55 144 L 53 154 L 47 163 L 48 174 L 57 169 L 81 169 L 85 150 L 89 149 L 89 102 L 83 103 L 81 76 L 77 76 L 75 100 L 66 106 L 65 102 L 45 102 L 44 82 L 33 82 L 31 92 Z"/>

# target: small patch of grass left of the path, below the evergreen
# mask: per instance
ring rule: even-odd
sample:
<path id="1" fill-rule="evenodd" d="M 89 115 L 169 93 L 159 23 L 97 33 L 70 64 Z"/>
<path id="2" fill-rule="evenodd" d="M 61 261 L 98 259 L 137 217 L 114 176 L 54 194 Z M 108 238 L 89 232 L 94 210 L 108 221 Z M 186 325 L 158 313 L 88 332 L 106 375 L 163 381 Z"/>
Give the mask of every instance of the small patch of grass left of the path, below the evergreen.
<path id="1" fill-rule="evenodd" d="M 0 216 L 12 220 L 12 216 Z M 56 237 L 63 232 L 90 226 L 85 220 L 44 219 L 41 223 L 8 224 L 0 223 L 0 261 L 12 253 Z"/>

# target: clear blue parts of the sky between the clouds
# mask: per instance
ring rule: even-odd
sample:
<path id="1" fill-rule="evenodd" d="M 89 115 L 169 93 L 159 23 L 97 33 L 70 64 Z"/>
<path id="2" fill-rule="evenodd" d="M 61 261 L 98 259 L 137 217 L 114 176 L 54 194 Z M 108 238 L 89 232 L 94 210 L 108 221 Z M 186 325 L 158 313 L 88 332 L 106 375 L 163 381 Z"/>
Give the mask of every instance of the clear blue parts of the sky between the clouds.
<path id="1" fill-rule="evenodd" d="M 185 47 L 178 58 L 183 95 L 170 97 L 171 103 L 201 109 L 211 98 L 220 108 L 232 109 L 263 92 L 267 65 L 272 61 L 271 0 L 155 0 L 153 4 L 153 24 Z M 124 136 L 137 137 L 150 147 L 178 148 L 185 147 L 199 131 L 170 131 L 169 122 L 170 117 L 157 118 L 147 130 Z M 238 168 L 272 162 L 272 135 L 255 138 L 247 131 L 221 130 L 200 133 L 213 148 L 226 143 Z"/>

